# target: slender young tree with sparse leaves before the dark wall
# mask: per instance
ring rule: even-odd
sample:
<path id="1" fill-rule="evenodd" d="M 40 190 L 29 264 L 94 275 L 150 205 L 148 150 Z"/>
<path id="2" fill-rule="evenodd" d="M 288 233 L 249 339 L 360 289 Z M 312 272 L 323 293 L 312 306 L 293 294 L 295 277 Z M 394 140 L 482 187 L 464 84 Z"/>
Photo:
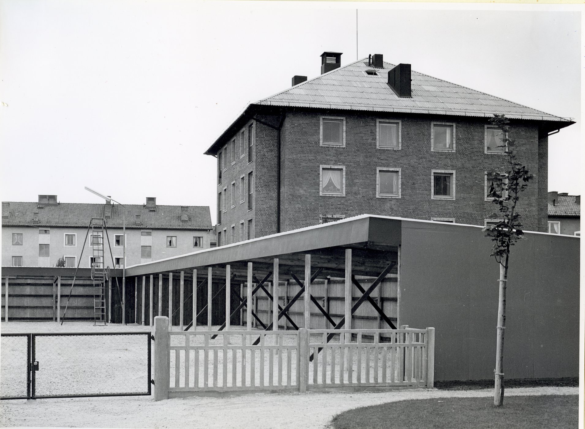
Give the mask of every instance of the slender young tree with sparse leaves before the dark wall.
<path id="1" fill-rule="evenodd" d="M 514 245 L 524 232 L 522 231 L 521 214 L 517 210 L 519 194 L 526 189 L 532 173 L 526 166 L 516 160 L 515 140 L 510 139 L 510 122 L 505 115 L 494 115 L 490 122 L 501 131 L 501 145 L 505 151 L 506 164 L 500 168 L 488 171 L 488 193 L 493 197 L 493 203 L 498 206 L 498 212 L 491 215 L 497 219 L 487 225 L 483 231 L 494 242 L 490 256 L 493 256 L 500 265 L 500 295 L 498 304 L 498 327 L 495 350 L 495 380 L 494 405 L 500 407 L 504 403 L 504 329 L 506 322 L 506 287 L 508 282 L 508 264 L 510 262 L 510 247 Z"/>

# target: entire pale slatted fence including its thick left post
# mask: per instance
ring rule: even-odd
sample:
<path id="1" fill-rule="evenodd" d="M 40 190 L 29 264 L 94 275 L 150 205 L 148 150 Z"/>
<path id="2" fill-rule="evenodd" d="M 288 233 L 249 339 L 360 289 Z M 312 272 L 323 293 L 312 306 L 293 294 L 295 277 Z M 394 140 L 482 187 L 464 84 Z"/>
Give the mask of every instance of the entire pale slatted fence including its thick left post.
<path id="1" fill-rule="evenodd" d="M 169 332 L 168 318 L 156 317 L 154 399 L 433 387 L 434 344 L 434 328 Z"/>

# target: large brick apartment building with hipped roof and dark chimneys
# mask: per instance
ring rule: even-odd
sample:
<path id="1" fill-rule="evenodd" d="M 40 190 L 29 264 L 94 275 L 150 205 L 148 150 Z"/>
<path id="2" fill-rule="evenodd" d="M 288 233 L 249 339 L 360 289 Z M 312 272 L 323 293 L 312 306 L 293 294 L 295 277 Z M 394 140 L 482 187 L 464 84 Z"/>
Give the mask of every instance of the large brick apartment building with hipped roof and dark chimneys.
<path id="1" fill-rule="evenodd" d="M 571 125 L 514 102 L 394 66 L 381 54 L 247 106 L 205 152 L 218 159 L 218 245 L 369 213 L 484 225 L 505 148 L 490 126 L 511 119 L 534 174 L 526 230 L 548 231 L 548 135 Z"/>

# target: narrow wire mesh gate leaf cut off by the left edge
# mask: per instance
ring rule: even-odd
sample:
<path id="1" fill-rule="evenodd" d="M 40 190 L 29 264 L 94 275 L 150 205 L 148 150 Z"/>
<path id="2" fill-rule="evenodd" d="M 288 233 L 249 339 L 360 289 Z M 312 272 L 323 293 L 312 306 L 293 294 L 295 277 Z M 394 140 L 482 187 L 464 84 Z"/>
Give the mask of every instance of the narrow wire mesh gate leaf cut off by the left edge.
<path id="1" fill-rule="evenodd" d="M 0 336 L 0 399 L 30 398 L 30 337 Z"/>

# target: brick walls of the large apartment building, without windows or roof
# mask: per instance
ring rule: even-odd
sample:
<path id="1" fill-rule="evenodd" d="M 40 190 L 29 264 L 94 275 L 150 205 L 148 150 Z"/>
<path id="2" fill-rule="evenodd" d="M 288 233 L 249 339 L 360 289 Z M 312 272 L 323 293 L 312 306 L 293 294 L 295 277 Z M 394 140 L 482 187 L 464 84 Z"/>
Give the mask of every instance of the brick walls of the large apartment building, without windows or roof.
<path id="1" fill-rule="evenodd" d="M 321 116 L 335 116 L 345 121 L 345 147 L 324 147 L 320 142 Z M 230 149 L 236 139 L 236 162 L 230 163 L 228 149 L 226 169 L 222 172 L 219 191 L 228 191 L 228 207 L 222 213 L 218 231 L 226 229 L 232 242 L 230 228 L 235 225 L 235 241 L 240 237 L 239 224 L 253 219 L 251 238 L 277 232 L 277 130 L 280 113 L 255 116 L 253 123 L 254 156 L 247 162 L 247 152 L 240 157 L 240 131 L 229 140 Z M 401 121 L 400 150 L 377 149 L 376 119 Z M 432 122 L 455 124 L 455 152 L 431 150 Z M 265 125 L 269 123 L 271 126 Z M 319 223 L 320 215 L 350 217 L 359 214 L 400 216 L 416 219 L 454 218 L 462 224 L 483 225 L 484 219 L 496 208 L 486 201 L 484 173 L 505 163 L 506 157 L 485 153 L 487 118 L 461 116 L 372 114 L 322 109 L 290 109 L 281 128 L 280 162 L 280 232 Z M 536 121 L 512 121 L 512 139 L 517 140 L 519 160 L 534 174 L 534 181 L 522 194 L 519 203 L 524 228 L 546 232 L 547 222 L 547 163 L 548 137 L 539 135 Z M 247 142 L 247 140 L 246 140 Z M 226 146 L 223 146 L 224 148 Z M 246 145 L 244 145 L 246 147 Z M 345 167 L 345 196 L 321 196 L 319 166 Z M 378 167 L 401 170 L 400 198 L 380 198 L 376 195 Z M 455 200 L 431 198 L 432 170 L 455 171 Z M 247 174 L 253 171 L 254 191 L 252 210 L 247 209 Z M 239 201 L 240 177 L 245 176 L 244 202 Z M 235 181 L 236 204 L 231 207 L 231 184 Z"/>

